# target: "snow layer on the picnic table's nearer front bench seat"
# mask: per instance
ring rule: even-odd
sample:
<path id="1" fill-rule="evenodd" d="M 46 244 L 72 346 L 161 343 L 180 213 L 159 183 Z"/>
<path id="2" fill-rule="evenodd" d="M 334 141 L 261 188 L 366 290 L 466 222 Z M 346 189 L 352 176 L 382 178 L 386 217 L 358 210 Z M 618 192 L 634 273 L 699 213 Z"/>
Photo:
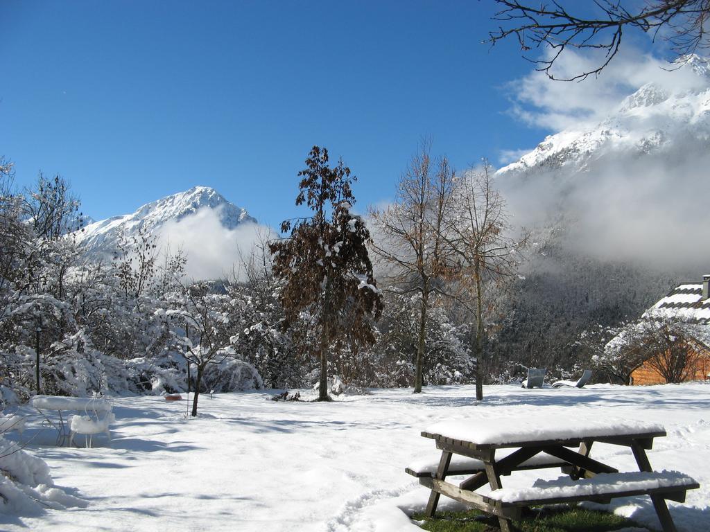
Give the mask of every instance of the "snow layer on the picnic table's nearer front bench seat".
<path id="1" fill-rule="evenodd" d="M 591 479 L 572 480 L 564 476 L 557 480 L 536 480 L 531 487 L 496 489 L 488 498 L 501 502 L 540 501 L 562 497 L 592 497 L 594 495 L 635 492 L 682 484 L 695 480 L 677 471 L 602 473 Z"/>

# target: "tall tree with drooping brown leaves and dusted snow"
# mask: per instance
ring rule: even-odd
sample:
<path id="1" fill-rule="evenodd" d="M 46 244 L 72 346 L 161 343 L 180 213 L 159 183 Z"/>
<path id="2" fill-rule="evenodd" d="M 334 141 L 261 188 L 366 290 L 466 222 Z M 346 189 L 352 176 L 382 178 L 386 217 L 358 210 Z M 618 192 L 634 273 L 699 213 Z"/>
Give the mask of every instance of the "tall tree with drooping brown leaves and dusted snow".
<path id="1" fill-rule="evenodd" d="M 328 396 L 328 352 L 342 338 L 351 343 L 374 342 L 372 318 L 382 311 L 367 243 L 370 233 L 360 216 L 351 214 L 356 177 L 342 160 L 330 167 L 328 150 L 314 146 L 298 172 L 296 205 L 312 210 L 309 218 L 284 221 L 290 237 L 269 245 L 273 272 L 280 279 L 279 299 L 288 322 L 304 320 L 315 332 L 313 346 L 320 360 L 319 401 Z"/>

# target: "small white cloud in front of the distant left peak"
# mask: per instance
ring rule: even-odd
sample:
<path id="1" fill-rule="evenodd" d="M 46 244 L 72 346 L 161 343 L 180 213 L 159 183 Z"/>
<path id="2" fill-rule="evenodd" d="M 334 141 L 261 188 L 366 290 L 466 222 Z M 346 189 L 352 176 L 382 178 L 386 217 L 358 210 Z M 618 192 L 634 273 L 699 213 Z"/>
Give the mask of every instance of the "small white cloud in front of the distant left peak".
<path id="1" fill-rule="evenodd" d="M 181 249 L 187 255 L 187 276 L 217 279 L 239 275 L 243 259 L 253 253 L 260 240 L 275 238 L 274 231 L 258 223 L 241 223 L 234 229 L 222 226 L 219 210 L 205 207 L 180 221 L 160 228 L 161 248 Z"/>

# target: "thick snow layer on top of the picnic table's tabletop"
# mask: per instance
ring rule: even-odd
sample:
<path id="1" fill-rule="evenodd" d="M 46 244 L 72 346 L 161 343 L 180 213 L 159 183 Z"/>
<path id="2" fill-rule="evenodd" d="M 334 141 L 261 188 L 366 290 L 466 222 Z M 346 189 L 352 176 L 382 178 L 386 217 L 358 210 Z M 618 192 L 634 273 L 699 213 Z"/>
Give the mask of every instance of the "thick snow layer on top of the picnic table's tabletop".
<path id="1" fill-rule="evenodd" d="M 506 445 L 528 441 L 596 438 L 664 432 L 658 423 L 634 419 L 603 419 L 579 415 L 525 416 L 524 418 L 459 419 L 429 426 L 425 432 L 478 445 Z"/>

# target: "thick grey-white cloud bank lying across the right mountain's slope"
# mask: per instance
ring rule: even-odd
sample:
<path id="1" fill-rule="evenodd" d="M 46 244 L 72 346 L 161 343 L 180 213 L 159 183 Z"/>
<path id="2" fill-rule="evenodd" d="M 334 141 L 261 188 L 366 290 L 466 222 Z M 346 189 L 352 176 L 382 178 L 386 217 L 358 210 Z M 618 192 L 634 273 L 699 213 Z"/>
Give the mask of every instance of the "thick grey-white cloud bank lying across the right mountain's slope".
<path id="1" fill-rule="evenodd" d="M 682 155 L 616 155 L 569 179 L 539 172 L 500 184 L 515 225 L 559 226 L 561 242 L 584 255 L 653 267 L 707 265 L 710 155 Z"/>

